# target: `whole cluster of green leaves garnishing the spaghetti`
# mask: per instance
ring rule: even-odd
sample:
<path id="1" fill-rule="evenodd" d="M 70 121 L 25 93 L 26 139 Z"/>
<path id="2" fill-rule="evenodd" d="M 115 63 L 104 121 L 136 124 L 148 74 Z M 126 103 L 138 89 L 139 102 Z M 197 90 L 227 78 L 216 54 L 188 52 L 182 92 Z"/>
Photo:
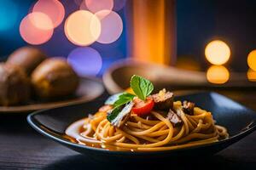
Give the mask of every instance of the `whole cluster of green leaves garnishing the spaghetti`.
<path id="1" fill-rule="evenodd" d="M 137 96 L 139 99 L 145 100 L 154 90 L 152 82 L 147 79 L 134 75 L 131 77 L 131 88 L 136 94 L 120 93 L 109 97 L 105 104 L 113 105 L 113 110 L 108 112 L 107 119 L 113 126 L 119 127 L 123 118 L 131 112 L 134 103 L 132 99 Z"/>

